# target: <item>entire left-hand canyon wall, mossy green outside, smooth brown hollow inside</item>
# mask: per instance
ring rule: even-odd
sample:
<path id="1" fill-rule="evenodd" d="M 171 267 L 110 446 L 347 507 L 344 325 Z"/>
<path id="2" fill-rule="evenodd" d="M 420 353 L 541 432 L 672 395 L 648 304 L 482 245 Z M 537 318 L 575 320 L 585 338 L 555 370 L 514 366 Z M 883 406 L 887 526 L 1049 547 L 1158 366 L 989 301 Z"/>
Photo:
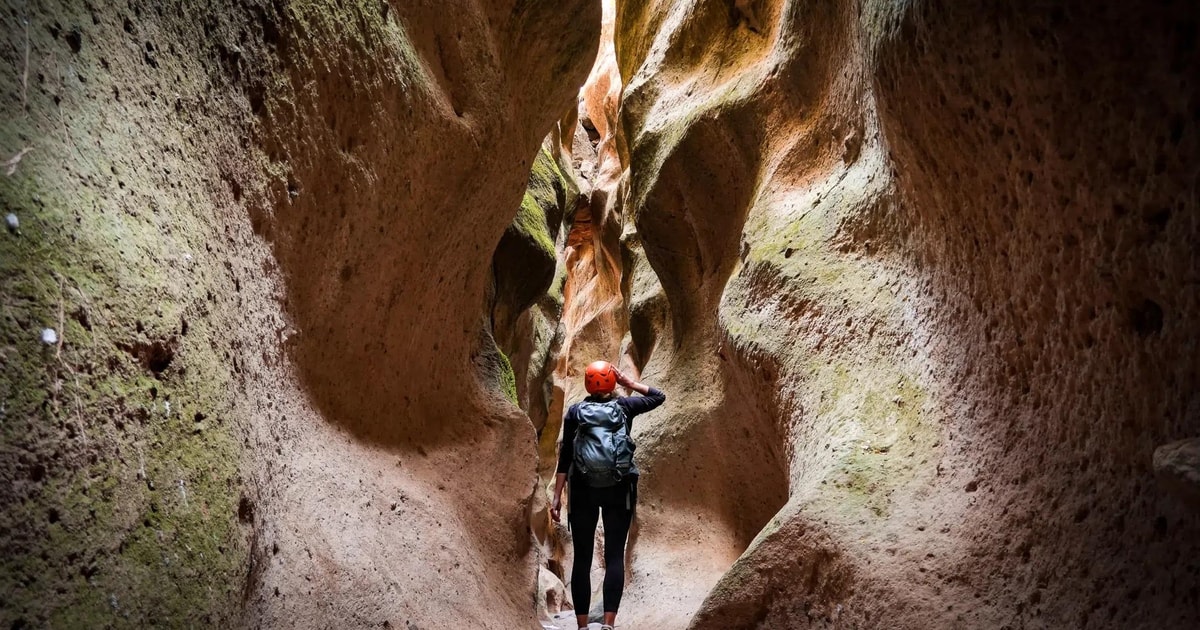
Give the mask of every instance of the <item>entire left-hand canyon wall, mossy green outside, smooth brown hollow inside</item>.
<path id="1" fill-rule="evenodd" d="M 497 245 L 599 6 L 0 19 L 0 623 L 534 628 Z"/>

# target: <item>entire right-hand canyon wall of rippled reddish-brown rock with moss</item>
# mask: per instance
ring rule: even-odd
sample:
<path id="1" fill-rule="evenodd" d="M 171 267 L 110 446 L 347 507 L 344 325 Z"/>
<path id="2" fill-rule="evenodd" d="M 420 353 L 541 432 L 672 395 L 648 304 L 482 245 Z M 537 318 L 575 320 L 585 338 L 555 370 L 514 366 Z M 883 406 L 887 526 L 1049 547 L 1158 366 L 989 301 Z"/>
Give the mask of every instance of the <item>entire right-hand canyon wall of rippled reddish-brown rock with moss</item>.
<path id="1" fill-rule="evenodd" d="M 617 7 L 630 628 L 1200 623 L 1194 7 Z"/>

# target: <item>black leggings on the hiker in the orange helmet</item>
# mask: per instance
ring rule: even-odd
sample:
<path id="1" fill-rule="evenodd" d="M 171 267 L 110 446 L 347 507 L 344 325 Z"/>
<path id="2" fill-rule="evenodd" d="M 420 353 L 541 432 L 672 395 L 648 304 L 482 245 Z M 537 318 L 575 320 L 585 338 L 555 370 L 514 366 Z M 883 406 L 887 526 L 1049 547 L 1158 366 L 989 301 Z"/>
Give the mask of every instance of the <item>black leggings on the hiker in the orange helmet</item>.
<path id="1" fill-rule="evenodd" d="M 604 612 L 616 613 L 625 588 L 625 539 L 637 506 L 637 478 L 630 476 L 607 488 L 593 488 L 572 480 L 570 500 L 575 614 L 587 614 L 592 605 L 592 554 L 600 517 L 604 517 Z"/>

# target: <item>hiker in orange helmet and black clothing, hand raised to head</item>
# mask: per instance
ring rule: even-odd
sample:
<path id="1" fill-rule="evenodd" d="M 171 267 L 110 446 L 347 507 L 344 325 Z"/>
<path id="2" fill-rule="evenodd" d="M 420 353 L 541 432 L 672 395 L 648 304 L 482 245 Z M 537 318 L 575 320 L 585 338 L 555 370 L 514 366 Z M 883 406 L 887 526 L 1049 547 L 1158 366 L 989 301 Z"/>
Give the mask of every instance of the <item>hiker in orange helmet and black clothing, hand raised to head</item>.
<path id="1" fill-rule="evenodd" d="M 641 396 L 617 397 L 617 385 Z M 634 522 L 637 505 L 637 467 L 634 466 L 634 442 L 629 438 L 634 416 L 662 404 L 661 390 L 637 383 L 622 374 L 607 361 L 588 365 L 583 385 L 589 396 L 566 410 L 563 418 L 563 444 L 558 451 L 554 475 L 554 500 L 551 516 L 558 522 L 563 509 L 563 486 L 570 476 L 571 524 L 575 563 L 571 568 L 571 598 L 581 629 L 588 626 L 592 599 L 592 552 L 596 521 L 604 517 L 604 625 L 617 623 L 620 593 L 625 588 L 625 538 Z"/>

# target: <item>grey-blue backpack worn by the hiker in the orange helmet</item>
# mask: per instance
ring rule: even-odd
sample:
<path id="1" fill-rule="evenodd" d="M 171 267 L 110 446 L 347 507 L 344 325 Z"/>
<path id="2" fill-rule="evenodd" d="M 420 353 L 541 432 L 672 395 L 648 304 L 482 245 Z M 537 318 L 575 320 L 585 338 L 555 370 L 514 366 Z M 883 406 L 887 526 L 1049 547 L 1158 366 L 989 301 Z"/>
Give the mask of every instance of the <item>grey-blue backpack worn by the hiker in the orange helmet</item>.
<path id="1" fill-rule="evenodd" d="M 595 488 L 616 486 L 634 468 L 634 440 L 617 401 L 581 402 L 575 408 L 575 469 Z"/>

